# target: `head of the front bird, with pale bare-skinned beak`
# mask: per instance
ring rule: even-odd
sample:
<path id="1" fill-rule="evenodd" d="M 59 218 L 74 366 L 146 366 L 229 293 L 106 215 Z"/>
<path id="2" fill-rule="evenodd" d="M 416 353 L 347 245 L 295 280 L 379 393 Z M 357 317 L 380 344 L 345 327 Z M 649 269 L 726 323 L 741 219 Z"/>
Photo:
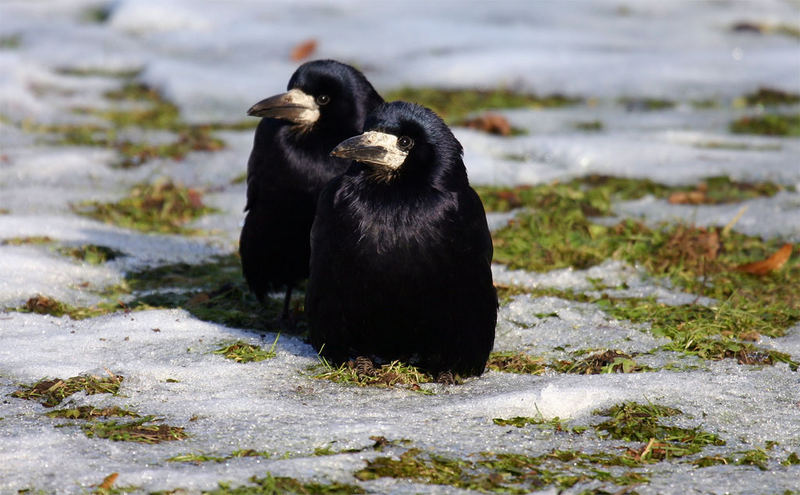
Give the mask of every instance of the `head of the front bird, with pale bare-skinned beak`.
<path id="1" fill-rule="evenodd" d="M 364 133 L 339 143 L 331 155 L 364 163 L 373 177 L 466 177 L 461 143 L 433 111 L 403 101 L 376 108 L 364 123 Z"/>

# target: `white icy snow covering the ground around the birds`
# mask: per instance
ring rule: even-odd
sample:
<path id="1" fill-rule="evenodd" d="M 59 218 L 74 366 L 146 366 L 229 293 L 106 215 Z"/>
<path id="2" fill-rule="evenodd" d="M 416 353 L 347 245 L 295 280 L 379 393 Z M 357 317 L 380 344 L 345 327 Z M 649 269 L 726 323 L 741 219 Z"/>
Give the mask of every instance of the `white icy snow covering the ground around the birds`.
<path id="1" fill-rule="evenodd" d="M 268 348 L 275 334 L 202 321 L 180 309 L 84 320 L 14 311 L 37 294 L 91 306 L 131 270 L 197 264 L 236 250 L 245 188 L 236 178 L 245 171 L 252 129 L 218 132 L 226 143 L 220 151 L 189 153 L 181 161 L 156 158 L 126 169 L 112 166 L 118 160 L 113 149 L 58 145 L 29 132 L 32 123 L 91 122 L 71 109 L 107 106 L 102 95 L 120 85 L 112 73 L 136 74 L 175 103 L 187 122 L 238 123 L 251 104 L 284 90 L 298 65 L 290 51 L 313 38 L 313 57 L 355 64 L 381 92 L 403 86 L 506 87 L 590 102 L 503 111 L 528 131 L 524 136 L 455 129 L 475 184 L 536 184 L 600 173 L 665 184 L 726 175 L 800 188 L 800 140 L 728 131 L 733 119 L 752 113 L 731 104 L 743 94 L 761 86 L 800 92 L 800 39 L 731 26 L 800 30 L 796 1 L 5 0 L 0 19 L 0 493 L 89 493 L 111 473 L 119 474 L 114 488 L 196 493 L 220 482 L 246 484 L 268 472 L 354 484 L 370 493 L 462 493 L 403 478 L 359 481 L 354 473 L 365 460 L 399 456 L 409 446 L 473 461 L 486 452 L 621 454 L 619 447 L 630 444 L 602 440 L 591 429 L 571 434 L 492 420 L 557 416 L 587 426 L 597 422 L 593 411 L 625 401 L 678 408 L 683 415 L 662 421 L 700 427 L 726 442 L 700 455 L 735 457 L 764 449 L 768 457 L 763 470 L 733 463 L 646 464 L 637 472 L 649 482 L 635 485 L 636 492 L 800 493 L 800 465 L 781 464 L 800 454 L 800 375 L 781 363 L 752 367 L 732 359 L 687 359 L 671 367 L 674 356 L 655 353 L 645 364 L 657 372 L 489 371 L 458 386 L 425 385 L 431 394 L 421 394 L 315 379 L 313 349 L 287 335 L 279 338 L 275 358 L 233 362 L 212 351 L 237 339 Z M 677 104 L 630 111 L 618 103 L 622 97 Z M 702 110 L 692 105 L 704 100 L 724 104 Z M 603 122 L 602 132 L 575 130 L 576 122 L 589 121 Z M 169 138 L 152 130 L 127 132 Z M 707 143 L 731 146 L 698 146 Z M 213 232 L 141 233 L 70 210 L 81 201 L 119 199 L 134 184 L 163 177 L 207 191 L 204 199 L 220 212 L 192 226 Z M 799 193 L 783 191 L 746 205 L 737 230 L 800 242 Z M 724 226 L 741 206 L 672 205 L 647 196 L 618 204 L 615 212 L 648 222 Z M 2 242 L 33 237 L 48 241 Z M 106 246 L 123 256 L 89 264 L 52 244 Z M 652 295 L 666 304 L 695 299 L 611 260 L 586 271 L 544 274 L 496 266 L 495 278 L 580 292 L 600 280 L 607 287 L 624 283 L 629 297 Z M 495 347 L 543 356 L 557 356 L 559 349 L 632 353 L 663 340 L 589 303 L 523 294 L 501 308 Z M 800 326 L 784 337 L 763 337 L 760 345 L 800 361 Z M 35 401 L 10 397 L 43 378 L 108 372 L 124 376 L 118 395 L 81 392 L 61 407 L 121 406 L 184 427 L 189 437 L 155 445 L 89 438 L 79 423 L 59 427 L 70 422 L 47 417 L 50 409 Z M 377 452 L 370 439 L 376 436 L 395 443 Z M 270 456 L 231 457 L 248 449 Z M 320 449 L 329 455 L 319 455 Z M 357 451 L 343 452 L 348 449 Z M 183 454 L 230 458 L 168 461 Z M 618 476 L 628 468 L 602 470 Z M 553 484 L 522 486 L 556 490 Z M 567 491 L 615 487 L 595 478 Z"/>

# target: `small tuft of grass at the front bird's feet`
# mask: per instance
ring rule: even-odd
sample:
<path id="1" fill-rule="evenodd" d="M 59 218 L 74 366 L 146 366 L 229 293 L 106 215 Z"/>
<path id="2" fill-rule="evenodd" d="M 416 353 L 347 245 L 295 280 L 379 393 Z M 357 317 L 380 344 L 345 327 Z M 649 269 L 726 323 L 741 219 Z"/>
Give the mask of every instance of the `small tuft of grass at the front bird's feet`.
<path id="1" fill-rule="evenodd" d="M 420 384 L 430 383 L 433 377 L 417 367 L 400 361 L 375 367 L 369 359 L 357 358 L 347 361 L 338 367 L 332 366 L 324 358 L 323 371 L 314 375 L 320 380 L 330 380 L 334 383 L 357 385 L 359 387 L 396 387 L 403 386 L 411 390 L 420 391 Z"/>

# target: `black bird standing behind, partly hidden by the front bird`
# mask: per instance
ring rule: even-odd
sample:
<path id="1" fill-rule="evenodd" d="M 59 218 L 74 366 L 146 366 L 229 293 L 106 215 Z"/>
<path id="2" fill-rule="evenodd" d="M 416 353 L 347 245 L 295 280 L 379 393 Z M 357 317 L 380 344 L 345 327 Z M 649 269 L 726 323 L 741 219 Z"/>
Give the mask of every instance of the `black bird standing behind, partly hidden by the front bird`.
<path id="1" fill-rule="evenodd" d="M 341 140 L 361 132 L 370 110 L 383 103 L 358 70 L 333 60 L 301 65 L 288 92 L 253 105 L 248 115 L 264 117 L 247 163 L 247 206 L 239 239 L 242 271 L 263 301 L 308 277 L 309 234 L 317 197 L 342 174 L 349 160 L 330 156 Z"/>

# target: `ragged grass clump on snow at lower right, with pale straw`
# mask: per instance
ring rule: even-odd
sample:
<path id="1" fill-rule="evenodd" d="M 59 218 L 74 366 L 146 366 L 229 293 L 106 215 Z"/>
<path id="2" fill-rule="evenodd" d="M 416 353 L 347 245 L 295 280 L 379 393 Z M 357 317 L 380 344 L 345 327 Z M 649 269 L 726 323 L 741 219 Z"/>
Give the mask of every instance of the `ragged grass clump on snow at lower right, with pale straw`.
<path id="1" fill-rule="evenodd" d="M 610 417 L 594 426 L 602 437 L 646 443 L 630 452 L 640 461 L 683 457 L 696 454 L 707 445 L 725 445 L 717 435 L 699 428 L 662 425 L 659 418 L 681 414 L 680 410 L 671 407 L 625 402 L 595 414 Z"/>

